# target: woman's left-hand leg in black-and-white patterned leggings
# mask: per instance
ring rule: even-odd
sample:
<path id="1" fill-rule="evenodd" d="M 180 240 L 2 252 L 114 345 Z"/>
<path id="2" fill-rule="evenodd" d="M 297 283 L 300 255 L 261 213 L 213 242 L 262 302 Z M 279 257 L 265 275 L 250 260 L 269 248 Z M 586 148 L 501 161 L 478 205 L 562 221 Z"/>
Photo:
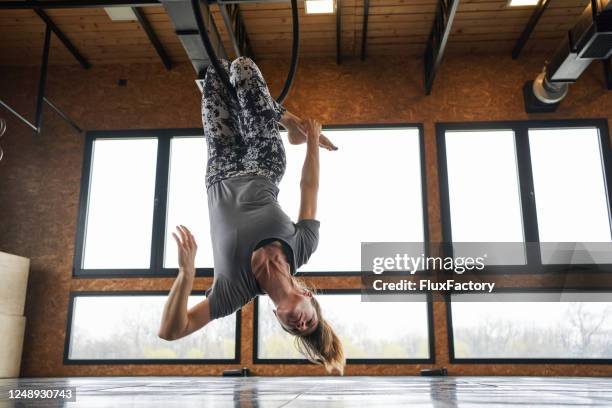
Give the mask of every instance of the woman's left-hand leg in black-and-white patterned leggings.
<path id="1" fill-rule="evenodd" d="M 222 59 L 221 64 L 229 75 L 229 61 Z M 210 65 L 202 92 L 202 124 L 208 146 L 206 187 L 244 172 L 239 110 L 236 100 Z"/>

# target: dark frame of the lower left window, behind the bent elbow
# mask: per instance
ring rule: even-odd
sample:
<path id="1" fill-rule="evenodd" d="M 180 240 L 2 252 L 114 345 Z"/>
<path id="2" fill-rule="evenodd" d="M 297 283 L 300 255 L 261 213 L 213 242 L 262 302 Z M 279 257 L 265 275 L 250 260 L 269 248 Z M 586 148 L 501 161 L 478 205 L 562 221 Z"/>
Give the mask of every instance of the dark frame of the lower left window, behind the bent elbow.
<path id="1" fill-rule="evenodd" d="M 65 365 L 122 365 L 122 364 L 238 364 L 240 363 L 241 321 L 242 310 L 236 311 L 236 339 L 234 358 L 232 359 L 71 359 L 70 340 L 72 336 L 72 320 L 74 304 L 77 297 L 105 297 L 105 296 L 168 296 L 167 290 L 125 290 L 125 291 L 71 291 L 68 300 L 68 316 L 66 319 L 66 337 L 64 339 L 63 363 Z M 193 290 L 190 295 L 204 295 L 204 290 Z"/>

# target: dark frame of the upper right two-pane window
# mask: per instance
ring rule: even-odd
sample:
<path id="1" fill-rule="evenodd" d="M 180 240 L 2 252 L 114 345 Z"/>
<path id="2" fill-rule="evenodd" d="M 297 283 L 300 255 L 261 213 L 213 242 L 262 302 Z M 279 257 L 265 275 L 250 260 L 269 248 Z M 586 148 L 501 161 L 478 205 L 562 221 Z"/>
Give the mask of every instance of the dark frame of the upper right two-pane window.
<path id="1" fill-rule="evenodd" d="M 531 167 L 529 146 L 529 129 L 552 128 L 597 128 L 601 146 L 604 187 L 608 205 L 608 222 L 612 230 L 612 158 L 610 133 L 607 119 L 551 119 L 524 121 L 491 121 L 491 122 L 443 122 L 436 123 L 436 145 L 438 161 L 438 182 L 440 188 L 440 222 L 442 224 L 442 241 L 444 256 L 452 256 L 452 227 L 450 214 L 450 196 L 448 185 L 448 168 L 446 157 L 447 131 L 483 131 L 510 130 L 514 132 L 518 185 L 520 189 L 521 214 L 526 252 L 525 265 L 486 266 L 483 273 L 491 274 L 532 274 L 534 270 L 543 273 L 603 272 L 612 271 L 612 264 L 598 264 L 605 270 L 594 268 L 592 264 L 542 264 L 540 240 L 536 209 L 536 193 Z M 531 243 L 531 244 L 530 244 Z M 537 245 L 536 245 L 537 244 Z"/>

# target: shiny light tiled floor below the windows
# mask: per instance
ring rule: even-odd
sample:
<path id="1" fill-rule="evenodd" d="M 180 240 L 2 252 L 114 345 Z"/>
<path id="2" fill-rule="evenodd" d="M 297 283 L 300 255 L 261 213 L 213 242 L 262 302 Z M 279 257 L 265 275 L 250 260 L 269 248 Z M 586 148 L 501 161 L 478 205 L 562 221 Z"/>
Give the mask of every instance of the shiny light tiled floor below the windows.
<path id="1" fill-rule="evenodd" d="M 45 404 L 65 407 L 612 407 L 610 378 L 21 378 L 0 379 L 0 407 L 26 406 L 6 399 L 17 385 L 76 386 L 76 402 Z"/>

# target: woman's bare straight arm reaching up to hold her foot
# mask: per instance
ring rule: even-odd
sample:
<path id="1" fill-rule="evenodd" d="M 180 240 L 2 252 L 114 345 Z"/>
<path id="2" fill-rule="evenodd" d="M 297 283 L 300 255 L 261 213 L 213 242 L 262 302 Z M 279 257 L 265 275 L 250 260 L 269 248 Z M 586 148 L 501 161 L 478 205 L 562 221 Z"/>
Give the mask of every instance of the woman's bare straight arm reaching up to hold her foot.
<path id="1" fill-rule="evenodd" d="M 306 158 L 302 167 L 302 179 L 300 180 L 301 198 L 298 221 L 315 219 L 319 192 L 319 135 L 321 125 L 313 119 L 308 119 L 305 122 L 305 130 L 308 140 L 306 142 Z"/>

